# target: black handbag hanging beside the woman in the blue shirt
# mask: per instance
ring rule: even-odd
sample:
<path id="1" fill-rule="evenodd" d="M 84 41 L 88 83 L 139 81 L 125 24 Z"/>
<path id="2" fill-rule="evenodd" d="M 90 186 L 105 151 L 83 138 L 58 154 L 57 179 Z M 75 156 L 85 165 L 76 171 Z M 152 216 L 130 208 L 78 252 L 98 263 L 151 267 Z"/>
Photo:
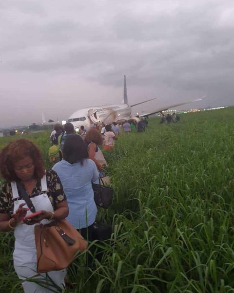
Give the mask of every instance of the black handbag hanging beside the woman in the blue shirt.
<path id="1" fill-rule="evenodd" d="M 103 185 L 100 184 L 100 180 Z M 113 202 L 113 188 L 104 185 L 103 180 L 99 177 L 99 184 L 92 183 L 94 190 L 94 201 L 98 207 L 108 209 Z"/>

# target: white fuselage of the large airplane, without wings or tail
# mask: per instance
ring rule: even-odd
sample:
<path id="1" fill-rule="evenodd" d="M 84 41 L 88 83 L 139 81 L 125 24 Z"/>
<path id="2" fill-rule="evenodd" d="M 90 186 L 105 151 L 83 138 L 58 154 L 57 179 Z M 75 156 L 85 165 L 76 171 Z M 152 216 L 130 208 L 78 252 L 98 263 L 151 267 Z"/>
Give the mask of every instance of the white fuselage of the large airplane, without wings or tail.
<path id="1" fill-rule="evenodd" d="M 75 128 L 80 128 L 83 125 L 85 129 L 89 129 L 93 124 L 112 124 L 125 117 L 131 117 L 130 105 L 103 105 L 80 109 L 73 113 L 67 122 L 72 123 Z"/>

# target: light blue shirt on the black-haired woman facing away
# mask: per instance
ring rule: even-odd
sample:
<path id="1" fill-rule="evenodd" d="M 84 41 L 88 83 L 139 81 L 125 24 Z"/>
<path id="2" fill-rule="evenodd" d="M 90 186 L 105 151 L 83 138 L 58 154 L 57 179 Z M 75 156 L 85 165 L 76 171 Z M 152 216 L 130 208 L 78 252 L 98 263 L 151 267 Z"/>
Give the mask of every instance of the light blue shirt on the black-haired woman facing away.
<path id="1" fill-rule="evenodd" d="M 92 225 L 97 215 L 92 182 L 98 180 L 98 169 L 94 161 L 84 159 L 82 166 L 80 163 L 70 164 L 62 159 L 55 164 L 53 170 L 59 175 L 67 197 L 67 220 L 76 229 Z"/>

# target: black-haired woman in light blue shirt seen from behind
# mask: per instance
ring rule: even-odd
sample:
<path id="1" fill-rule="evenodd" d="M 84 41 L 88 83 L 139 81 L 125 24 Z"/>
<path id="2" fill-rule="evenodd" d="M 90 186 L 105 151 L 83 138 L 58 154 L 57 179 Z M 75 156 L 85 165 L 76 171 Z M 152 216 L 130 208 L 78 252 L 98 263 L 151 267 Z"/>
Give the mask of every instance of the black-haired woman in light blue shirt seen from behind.
<path id="1" fill-rule="evenodd" d="M 87 148 L 80 135 L 68 136 L 62 153 L 63 159 L 55 164 L 53 170 L 58 173 L 67 197 L 67 220 L 86 239 L 88 230 L 88 238 L 92 241 L 92 225 L 97 215 L 92 182 L 98 180 L 98 169 L 94 161 L 88 159 Z"/>

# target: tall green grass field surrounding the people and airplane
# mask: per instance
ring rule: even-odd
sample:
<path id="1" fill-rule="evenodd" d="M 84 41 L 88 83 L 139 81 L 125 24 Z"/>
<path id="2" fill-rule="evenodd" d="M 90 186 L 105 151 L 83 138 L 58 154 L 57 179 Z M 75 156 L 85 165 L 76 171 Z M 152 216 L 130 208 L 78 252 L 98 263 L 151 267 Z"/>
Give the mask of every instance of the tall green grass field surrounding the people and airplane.
<path id="1" fill-rule="evenodd" d="M 95 268 L 78 256 L 64 292 L 234 292 L 234 108 L 158 122 L 105 153 L 115 199 L 98 217 L 112 239 Z M 48 134 L 28 138 L 48 168 Z M 0 233 L 1 293 L 20 292 L 12 249 L 12 234 Z"/>

